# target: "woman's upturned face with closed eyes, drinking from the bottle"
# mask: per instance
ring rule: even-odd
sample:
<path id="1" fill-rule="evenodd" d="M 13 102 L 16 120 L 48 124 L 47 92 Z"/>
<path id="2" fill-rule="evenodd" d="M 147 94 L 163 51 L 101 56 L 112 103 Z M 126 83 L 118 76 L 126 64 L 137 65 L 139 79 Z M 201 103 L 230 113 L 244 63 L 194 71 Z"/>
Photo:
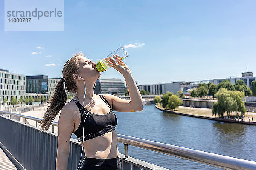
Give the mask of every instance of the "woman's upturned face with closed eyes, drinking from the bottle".
<path id="1" fill-rule="evenodd" d="M 79 72 L 78 76 L 84 80 L 97 80 L 100 76 L 100 72 L 96 68 L 96 63 L 91 62 L 87 57 L 80 56 L 79 59 Z"/>

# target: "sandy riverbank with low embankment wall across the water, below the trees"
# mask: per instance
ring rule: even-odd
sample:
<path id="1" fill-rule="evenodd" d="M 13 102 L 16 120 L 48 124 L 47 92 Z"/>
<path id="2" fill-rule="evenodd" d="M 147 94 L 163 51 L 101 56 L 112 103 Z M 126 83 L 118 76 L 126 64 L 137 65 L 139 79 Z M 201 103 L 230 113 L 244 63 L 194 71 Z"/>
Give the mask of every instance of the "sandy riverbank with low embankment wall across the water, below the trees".
<path id="1" fill-rule="evenodd" d="M 209 119 L 209 120 L 215 120 L 215 121 L 220 121 L 220 122 L 230 122 L 230 123 L 242 123 L 242 124 L 247 124 L 247 125 L 256 125 L 256 122 L 249 122 L 248 121 L 248 116 L 246 116 L 243 121 L 239 122 L 233 119 L 224 119 L 224 118 L 218 118 L 216 116 L 212 116 L 211 111 L 208 111 L 207 109 L 194 109 L 194 108 L 189 108 L 184 109 L 184 108 L 179 108 L 177 111 L 170 111 L 170 110 L 163 110 L 163 108 L 159 105 L 155 105 L 155 107 L 161 111 L 167 112 L 167 113 L 173 113 L 173 114 L 179 114 L 183 116 L 190 116 L 190 117 L 196 117 L 196 118 L 201 118 L 201 119 Z M 211 115 L 210 115 L 211 114 Z M 256 119 L 256 118 L 255 118 Z"/>

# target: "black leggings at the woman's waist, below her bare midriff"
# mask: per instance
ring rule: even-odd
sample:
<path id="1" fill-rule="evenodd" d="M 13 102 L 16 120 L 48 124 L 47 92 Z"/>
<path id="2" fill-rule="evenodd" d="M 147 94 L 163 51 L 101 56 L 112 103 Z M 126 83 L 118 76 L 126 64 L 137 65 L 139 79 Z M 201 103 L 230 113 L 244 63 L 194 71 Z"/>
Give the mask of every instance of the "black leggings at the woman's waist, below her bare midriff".
<path id="1" fill-rule="evenodd" d="M 120 157 L 106 159 L 85 157 L 81 170 L 121 170 Z"/>

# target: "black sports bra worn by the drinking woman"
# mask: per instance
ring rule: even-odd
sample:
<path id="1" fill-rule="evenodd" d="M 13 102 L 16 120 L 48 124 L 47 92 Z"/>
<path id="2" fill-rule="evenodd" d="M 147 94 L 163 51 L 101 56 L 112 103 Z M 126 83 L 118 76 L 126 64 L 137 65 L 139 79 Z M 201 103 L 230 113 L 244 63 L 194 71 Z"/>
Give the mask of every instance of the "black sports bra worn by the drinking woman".
<path id="1" fill-rule="evenodd" d="M 115 113 L 112 111 L 107 99 L 102 94 L 99 94 L 99 96 L 110 108 L 109 113 L 101 114 L 101 115 L 92 113 L 92 116 L 90 116 L 90 113 L 91 113 L 90 112 L 89 115 L 86 117 L 84 110 L 85 110 L 86 114 L 89 111 L 87 109 L 85 109 L 83 107 L 83 105 L 81 105 L 81 103 L 77 99 L 72 99 L 76 103 L 76 105 L 79 108 L 79 111 L 81 113 L 80 125 L 77 128 L 77 130 L 74 132 L 74 134 L 78 138 L 79 142 L 93 139 L 97 136 L 100 136 L 100 135 L 103 135 L 105 133 L 115 130 L 115 127 L 117 125 L 117 117 L 116 117 Z M 86 117 L 86 119 L 85 119 L 85 117 Z M 84 122 L 84 119 L 85 119 L 85 122 Z M 84 126 L 84 137 L 83 137 L 83 126 Z"/>

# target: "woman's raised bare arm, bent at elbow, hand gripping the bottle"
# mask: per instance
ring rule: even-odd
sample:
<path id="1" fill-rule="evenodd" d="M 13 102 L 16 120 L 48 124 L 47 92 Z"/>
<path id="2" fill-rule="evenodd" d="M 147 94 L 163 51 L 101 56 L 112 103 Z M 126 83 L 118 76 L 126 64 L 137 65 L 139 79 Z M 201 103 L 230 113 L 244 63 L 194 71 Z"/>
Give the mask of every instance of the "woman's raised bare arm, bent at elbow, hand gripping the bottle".
<path id="1" fill-rule="evenodd" d="M 119 56 L 113 57 L 118 58 Z M 111 100 L 113 111 L 134 112 L 143 110 L 143 99 L 134 78 L 131 75 L 130 69 L 122 60 L 116 63 L 113 59 L 111 59 L 111 62 L 113 63 L 113 68 L 124 76 L 130 94 L 129 100 L 121 99 L 111 94 L 104 94 L 107 99 Z"/>

